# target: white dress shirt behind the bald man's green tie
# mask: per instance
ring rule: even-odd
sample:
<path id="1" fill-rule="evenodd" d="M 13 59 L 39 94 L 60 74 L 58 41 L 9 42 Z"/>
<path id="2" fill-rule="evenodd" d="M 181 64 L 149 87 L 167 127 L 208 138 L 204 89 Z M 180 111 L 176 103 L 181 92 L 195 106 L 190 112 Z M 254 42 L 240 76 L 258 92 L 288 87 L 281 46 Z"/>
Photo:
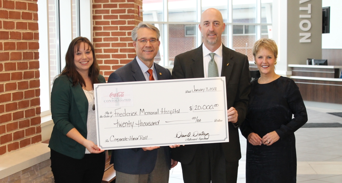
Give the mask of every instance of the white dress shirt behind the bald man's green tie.
<path id="1" fill-rule="evenodd" d="M 221 46 L 215 50 L 214 52 L 211 52 L 210 50 L 208 50 L 208 48 L 203 44 L 202 45 L 202 49 L 203 49 L 203 69 L 204 69 L 204 77 L 207 78 L 208 77 L 208 65 L 209 62 L 211 60 L 211 56 L 209 55 L 209 53 L 215 53 L 214 55 L 214 60 L 216 62 L 218 71 L 219 71 L 219 76 L 221 76 L 221 70 L 222 70 L 222 43 Z"/>

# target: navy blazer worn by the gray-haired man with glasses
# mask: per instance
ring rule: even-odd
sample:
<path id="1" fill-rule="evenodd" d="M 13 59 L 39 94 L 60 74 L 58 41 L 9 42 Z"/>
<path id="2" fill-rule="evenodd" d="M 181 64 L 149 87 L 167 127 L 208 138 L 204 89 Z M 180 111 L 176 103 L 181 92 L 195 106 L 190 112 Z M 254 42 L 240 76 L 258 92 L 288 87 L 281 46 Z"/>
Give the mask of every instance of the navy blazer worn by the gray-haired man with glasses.
<path id="1" fill-rule="evenodd" d="M 156 63 L 154 63 L 154 66 L 158 80 L 171 79 L 169 69 Z M 161 73 L 161 75 L 159 73 Z M 135 58 L 130 63 L 120 67 L 114 73 L 111 73 L 108 78 L 108 83 L 131 81 L 146 81 Z M 166 162 L 170 169 L 171 148 L 169 146 L 160 148 L 164 148 Z M 158 149 L 152 151 L 144 151 L 142 148 L 115 149 L 112 150 L 110 163 L 114 163 L 114 169 L 119 172 L 128 174 L 147 174 L 152 172 L 156 165 L 157 153 Z"/>

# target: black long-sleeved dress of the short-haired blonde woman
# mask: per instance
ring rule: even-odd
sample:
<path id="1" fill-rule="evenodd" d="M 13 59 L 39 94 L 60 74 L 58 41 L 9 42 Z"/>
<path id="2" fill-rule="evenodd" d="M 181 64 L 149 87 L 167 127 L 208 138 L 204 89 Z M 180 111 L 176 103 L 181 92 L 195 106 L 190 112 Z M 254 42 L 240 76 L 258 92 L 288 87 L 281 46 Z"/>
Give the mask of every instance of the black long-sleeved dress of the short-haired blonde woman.
<path id="1" fill-rule="evenodd" d="M 247 140 L 246 183 L 296 182 L 294 132 L 306 121 L 306 108 L 292 79 L 281 76 L 266 84 L 251 82 L 248 115 L 240 127 L 242 135 L 247 139 L 254 132 L 262 138 L 276 131 L 280 139 L 270 146 L 254 146 Z"/>

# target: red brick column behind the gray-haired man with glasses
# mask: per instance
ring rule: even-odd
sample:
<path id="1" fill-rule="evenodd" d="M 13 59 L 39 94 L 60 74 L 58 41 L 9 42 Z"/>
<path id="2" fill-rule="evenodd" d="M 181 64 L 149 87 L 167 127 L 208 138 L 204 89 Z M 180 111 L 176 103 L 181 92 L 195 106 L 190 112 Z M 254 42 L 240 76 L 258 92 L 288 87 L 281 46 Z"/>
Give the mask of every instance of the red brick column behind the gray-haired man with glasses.
<path id="1" fill-rule="evenodd" d="M 139 6 L 142 0 L 93 0 L 93 43 L 106 80 L 135 57 L 131 32 L 143 20 Z"/>

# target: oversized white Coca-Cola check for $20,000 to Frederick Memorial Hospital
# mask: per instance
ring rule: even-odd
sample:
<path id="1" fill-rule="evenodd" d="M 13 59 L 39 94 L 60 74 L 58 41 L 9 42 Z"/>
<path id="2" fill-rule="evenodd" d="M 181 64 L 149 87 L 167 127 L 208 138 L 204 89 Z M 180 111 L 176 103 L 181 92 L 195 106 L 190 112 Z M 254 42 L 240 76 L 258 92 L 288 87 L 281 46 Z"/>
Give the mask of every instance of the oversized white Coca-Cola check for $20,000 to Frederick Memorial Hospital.
<path id="1" fill-rule="evenodd" d="M 225 77 L 94 84 L 101 149 L 228 142 Z"/>

